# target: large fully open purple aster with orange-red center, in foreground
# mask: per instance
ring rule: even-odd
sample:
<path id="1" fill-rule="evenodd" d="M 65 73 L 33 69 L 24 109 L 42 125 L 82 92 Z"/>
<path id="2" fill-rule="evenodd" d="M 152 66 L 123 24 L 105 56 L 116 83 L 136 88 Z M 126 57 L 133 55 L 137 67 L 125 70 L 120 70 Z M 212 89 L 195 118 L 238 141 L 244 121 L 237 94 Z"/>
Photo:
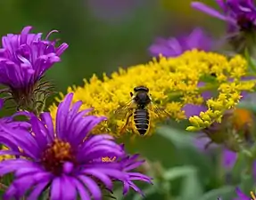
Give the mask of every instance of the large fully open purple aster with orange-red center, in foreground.
<path id="1" fill-rule="evenodd" d="M 4 127 L 6 137 L 17 150 L 0 151 L 0 155 L 21 156 L 0 163 L 0 175 L 13 172 L 14 180 L 3 199 L 19 198 L 28 191 L 26 199 L 37 199 L 49 188 L 51 200 L 102 199 L 101 188 L 112 189 L 114 180 L 135 188 L 133 180 L 148 179 L 143 174 L 129 172 L 139 162 L 134 157 L 120 162 L 103 163 L 99 157 L 125 157 L 123 148 L 110 135 L 90 135 L 95 125 L 105 117 L 88 116 L 92 109 L 78 111 L 82 101 L 72 105 L 73 94 L 60 103 L 55 127 L 49 113 L 40 118 L 28 114 L 32 132 Z M 25 112 L 24 112 L 25 113 Z M 25 113 L 26 114 L 26 113 Z M 27 115 L 27 114 L 26 114 Z M 3 141 L 5 144 L 5 142 Z"/>

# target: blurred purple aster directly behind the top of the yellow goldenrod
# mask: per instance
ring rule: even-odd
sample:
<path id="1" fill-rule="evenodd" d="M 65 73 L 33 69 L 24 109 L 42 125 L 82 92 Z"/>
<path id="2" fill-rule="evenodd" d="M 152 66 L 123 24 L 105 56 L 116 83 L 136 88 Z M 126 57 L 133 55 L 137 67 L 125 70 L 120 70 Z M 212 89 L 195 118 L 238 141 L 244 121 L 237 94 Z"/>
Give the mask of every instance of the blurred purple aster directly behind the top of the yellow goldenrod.
<path id="1" fill-rule="evenodd" d="M 149 47 L 153 56 L 161 54 L 164 57 L 176 57 L 188 50 L 211 51 L 213 46 L 210 36 L 207 36 L 202 28 L 194 28 L 188 36 L 170 37 L 169 39 L 157 38 Z"/>

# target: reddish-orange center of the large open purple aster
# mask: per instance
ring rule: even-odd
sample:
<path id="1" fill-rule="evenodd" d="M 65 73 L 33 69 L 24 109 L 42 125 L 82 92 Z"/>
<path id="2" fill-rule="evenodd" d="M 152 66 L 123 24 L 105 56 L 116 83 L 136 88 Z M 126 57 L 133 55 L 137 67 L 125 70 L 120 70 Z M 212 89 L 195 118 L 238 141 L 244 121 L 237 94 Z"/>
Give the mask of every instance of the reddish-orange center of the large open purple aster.
<path id="1" fill-rule="evenodd" d="M 65 162 L 74 163 L 75 157 L 69 142 L 54 140 L 54 142 L 45 149 L 42 156 L 42 164 L 47 171 L 58 175 L 62 173 L 62 167 Z"/>

